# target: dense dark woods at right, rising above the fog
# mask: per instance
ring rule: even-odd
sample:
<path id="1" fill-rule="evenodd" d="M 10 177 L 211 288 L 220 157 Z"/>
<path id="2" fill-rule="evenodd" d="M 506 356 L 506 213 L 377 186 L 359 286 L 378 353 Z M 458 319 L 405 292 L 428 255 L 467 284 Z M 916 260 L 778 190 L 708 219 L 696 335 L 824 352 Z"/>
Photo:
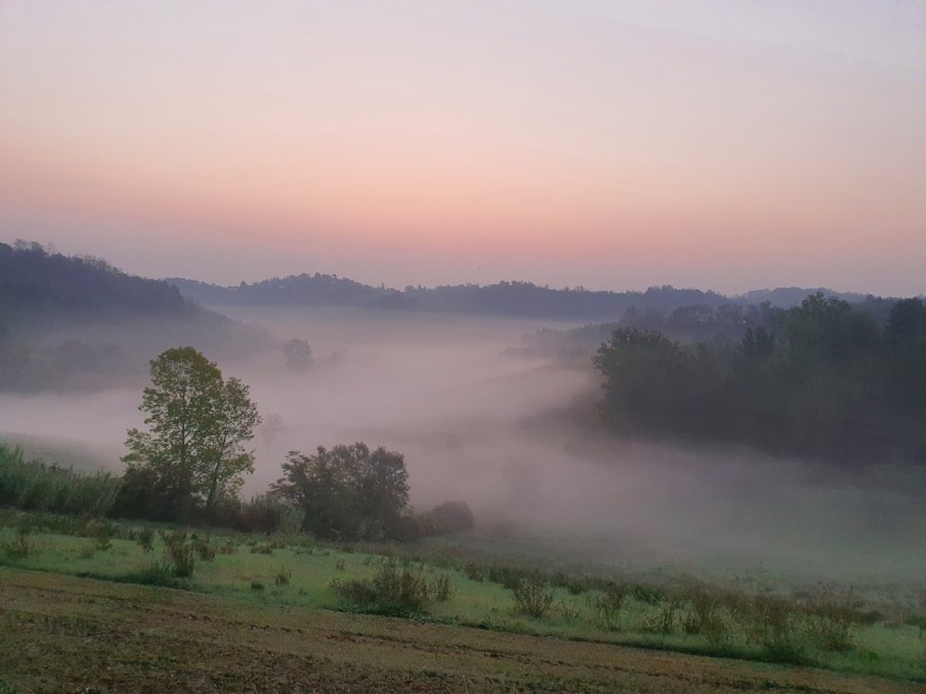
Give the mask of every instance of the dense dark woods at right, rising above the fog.
<path id="1" fill-rule="evenodd" d="M 743 442 L 856 465 L 926 454 L 926 306 L 872 312 L 813 294 L 766 306 L 739 341 L 682 344 L 617 328 L 594 356 L 613 430 Z M 870 307 L 869 307 L 870 308 Z"/>

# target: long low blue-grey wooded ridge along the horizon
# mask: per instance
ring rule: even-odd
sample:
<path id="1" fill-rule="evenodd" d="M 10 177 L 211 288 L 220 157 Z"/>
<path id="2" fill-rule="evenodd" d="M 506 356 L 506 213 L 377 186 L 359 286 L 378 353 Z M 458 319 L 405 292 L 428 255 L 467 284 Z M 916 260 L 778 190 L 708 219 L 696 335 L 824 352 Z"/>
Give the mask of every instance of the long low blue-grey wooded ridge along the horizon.
<path id="1" fill-rule="evenodd" d="M 650 287 L 646 291 L 588 291 L 551 289 L 531 282 L 512 281 L 490 285 L 459 284 L 438 287 L 406 287 L 398 291 L 372 287 L 336 275 L 293 275 L 253 284 L 222 287 L 193 279 L 169 278 L 181 294 L 208 306 L 355 306 L 400 310 L 473 313 L 494 316 L 542 317 L 564 320 L 619 320 L 629 308 L 674 311 L 682 306 L 719 308 L 723 304 L 760 304 L 788 307 L 800 304 L 808 294 L 861 301 L 862 294 L 827 289 L 782 288 L 724 296 L 716 291 Z"/>

